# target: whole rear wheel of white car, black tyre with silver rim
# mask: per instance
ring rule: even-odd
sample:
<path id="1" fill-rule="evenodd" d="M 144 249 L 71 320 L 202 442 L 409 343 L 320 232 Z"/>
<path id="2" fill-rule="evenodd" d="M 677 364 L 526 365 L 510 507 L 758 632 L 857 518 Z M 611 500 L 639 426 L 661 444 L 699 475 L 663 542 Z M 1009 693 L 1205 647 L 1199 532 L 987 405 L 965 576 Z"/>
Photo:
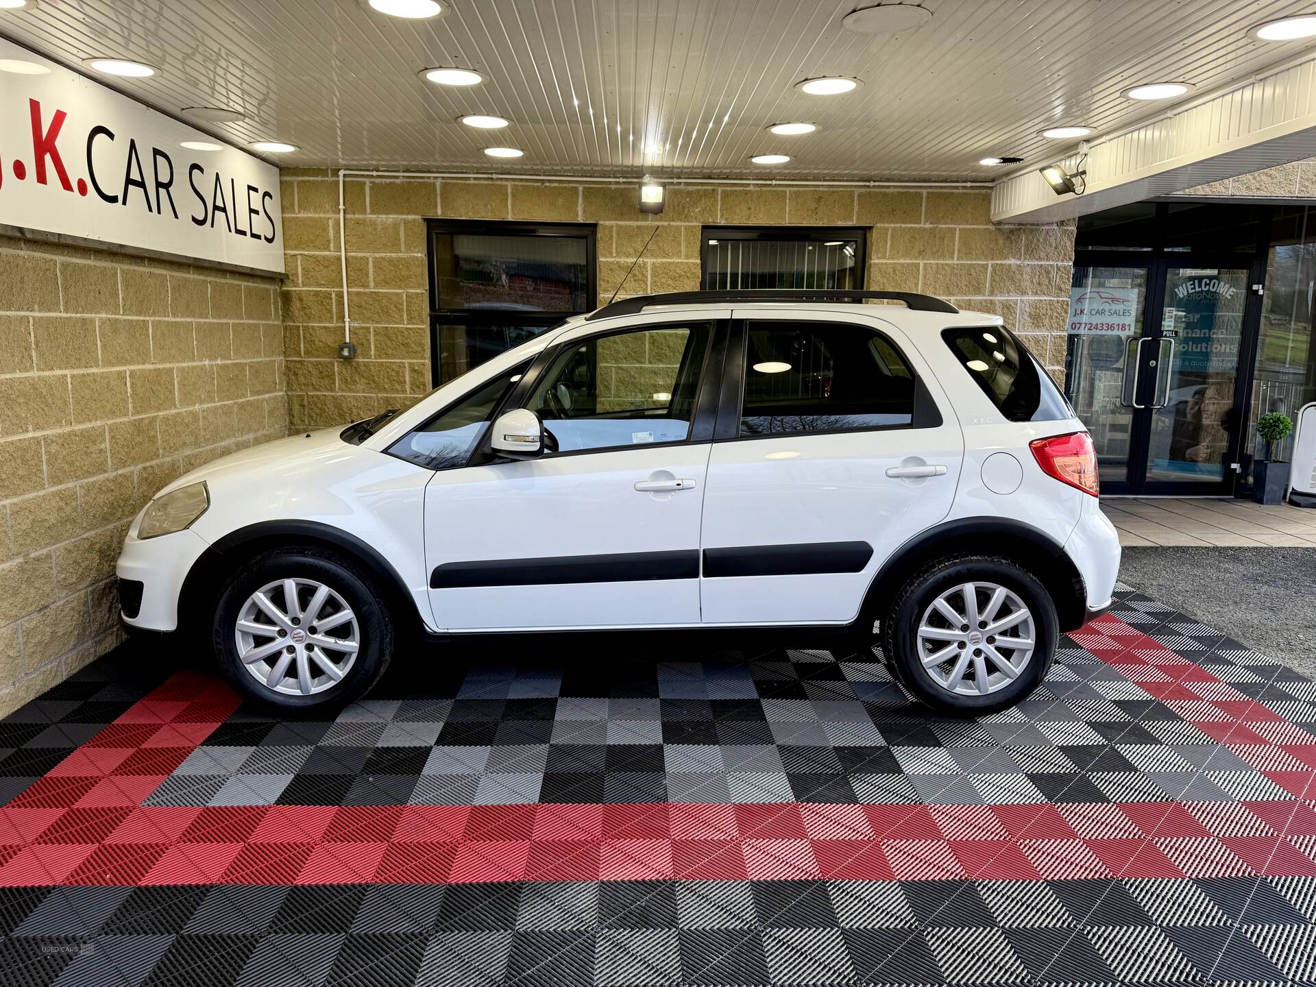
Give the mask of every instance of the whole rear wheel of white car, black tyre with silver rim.
<path id="1" fill-rule="evenodd" d="M 915 574 L 882 621 L 882 649 L 900 683 L 942 712 L 1007 709 L 1046 678 L 1055 603 L 1005 558 L 961 555 Z"/>

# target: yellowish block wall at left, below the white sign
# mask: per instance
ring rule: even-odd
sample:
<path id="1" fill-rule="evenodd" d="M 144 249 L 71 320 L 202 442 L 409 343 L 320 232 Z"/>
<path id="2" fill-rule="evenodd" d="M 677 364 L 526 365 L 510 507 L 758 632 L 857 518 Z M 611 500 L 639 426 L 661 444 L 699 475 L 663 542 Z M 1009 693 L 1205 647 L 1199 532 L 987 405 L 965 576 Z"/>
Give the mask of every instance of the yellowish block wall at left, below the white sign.
<path id="1" fill-rule="evenodd" d="M 0 715 L 121 640 L 157 490 L 287 433 L 278 286 L 0 237 Z"/>

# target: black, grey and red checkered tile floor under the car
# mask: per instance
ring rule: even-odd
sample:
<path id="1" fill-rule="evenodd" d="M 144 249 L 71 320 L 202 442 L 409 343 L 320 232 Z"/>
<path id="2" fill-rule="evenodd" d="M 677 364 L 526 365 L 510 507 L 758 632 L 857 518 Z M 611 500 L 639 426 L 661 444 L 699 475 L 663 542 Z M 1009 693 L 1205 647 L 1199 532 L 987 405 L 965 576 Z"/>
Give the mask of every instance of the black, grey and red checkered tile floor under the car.
<path id="1" fill-rule="evenodd" d="M 978 721 L 882 665 L 124 653 L 0 724 L 0 983 L 1316 983 L 1316 683 L 1136 592 Z"/>

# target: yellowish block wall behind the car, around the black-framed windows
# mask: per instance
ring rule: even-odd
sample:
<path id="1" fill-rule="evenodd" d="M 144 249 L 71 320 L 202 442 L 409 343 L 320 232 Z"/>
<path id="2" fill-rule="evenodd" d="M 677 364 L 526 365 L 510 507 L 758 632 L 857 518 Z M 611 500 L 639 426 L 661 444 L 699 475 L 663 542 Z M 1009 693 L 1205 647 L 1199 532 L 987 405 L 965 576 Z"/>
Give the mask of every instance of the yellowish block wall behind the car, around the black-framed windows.
<path id="1" fill-rule="evenodd" d="M 343 330 L 337 178 L 299 168 L 282 178 L 293 428 L 404 407 L 432 387 L 430 217 L 597 224 L 600 303 L 613 291 L 625 297 L 697 290 L 704 225 L 867 226 L 869 287 L 924 291 L 1000 315 L 1057 378 L 1063 374 L 1074 225 L 992 226 L 990 190 L 670 184 L 663 213 L 647 217 L 638 209 L 636 184 L 482 178 L 346 182 L 343 232 L 358 357 L 345 363 L 336 358 Z"/>

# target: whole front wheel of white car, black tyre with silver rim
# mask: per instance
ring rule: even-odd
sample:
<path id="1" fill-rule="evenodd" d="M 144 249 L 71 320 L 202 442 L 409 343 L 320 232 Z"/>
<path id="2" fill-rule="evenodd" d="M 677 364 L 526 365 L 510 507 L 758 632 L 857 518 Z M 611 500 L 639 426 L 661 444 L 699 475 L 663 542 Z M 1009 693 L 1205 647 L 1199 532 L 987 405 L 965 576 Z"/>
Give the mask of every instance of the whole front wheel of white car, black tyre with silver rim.
<path id="1" fill-rule="evenodd" d="M 341 705 L 367 692 L 393 650 L 374 578 L 325 549 L 257 555 L 220 590 L 215 654 L 245 697 L 279 709 Z"/>

